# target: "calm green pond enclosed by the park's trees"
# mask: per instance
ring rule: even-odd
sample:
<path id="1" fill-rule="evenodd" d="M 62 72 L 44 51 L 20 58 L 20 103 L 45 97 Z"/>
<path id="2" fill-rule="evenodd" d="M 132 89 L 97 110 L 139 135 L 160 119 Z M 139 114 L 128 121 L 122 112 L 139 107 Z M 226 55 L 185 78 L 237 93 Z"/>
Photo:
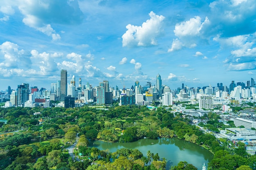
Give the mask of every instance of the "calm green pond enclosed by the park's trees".
<path id="1" fill-rule="evenodd" d="M 158 153 L 160 158 L 165 157 L 167 167 L 177 165 L 180 161 L 186 161 L 193 164 L 198 170 L 202 169 L 202 165 L 213 159 L 213 154 L 207 149 L 188 141 L 178 138 L 161 138 L 161 139 L 140 139 L 131 143 L 110 143 L 104 141 L 90 141 L 90 147 L 97 147 L 100 150 L 109 149 L 110 152 L 115 152 L 117 149 L 128 148 L 138 149 L 147 155 L 148 150 L 154 154 Z M 208 167 L 208 166 L 207 166 Z"/>

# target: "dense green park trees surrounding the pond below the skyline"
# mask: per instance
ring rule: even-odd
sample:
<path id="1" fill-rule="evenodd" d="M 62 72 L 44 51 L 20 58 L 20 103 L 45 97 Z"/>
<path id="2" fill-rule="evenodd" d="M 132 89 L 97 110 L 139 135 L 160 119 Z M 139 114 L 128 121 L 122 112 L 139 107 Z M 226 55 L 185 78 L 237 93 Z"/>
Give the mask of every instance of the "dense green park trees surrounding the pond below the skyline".
<path id="1" fill-rule="evenodd" d="M 35 112 L 41 114 L 34 115 Z M 225 126 L 218 122 L 218 116 L 209 114 L 207 125 L 202 126 L 218 132 L 218 128 Z M 0 137 L 0 170 L 165 170 L 166 159 L 160 159 L 157 153 L 148 151 L 143 156 L 136 149 L 110 153 L 88 147 L 88 139 L 132 142 L 144 137 L 178 137 L 202 145 L 215 152 L 209 163 L 214 170 L 245 165 L 255 168 L 256 158 L 247 155 L 242 144 L 226 148 L 213 135 L 191 125 L 190 119 L 161 107 L 0 108 L 0 117 L 7 119 L 7 124 L 0 124 L 0 133 L 6 133 Z M 81 162 L 73 161 L 67 150 L 76 140 L 74 154 Z M 171 169 L 196 168 L 182 161 Z"/>

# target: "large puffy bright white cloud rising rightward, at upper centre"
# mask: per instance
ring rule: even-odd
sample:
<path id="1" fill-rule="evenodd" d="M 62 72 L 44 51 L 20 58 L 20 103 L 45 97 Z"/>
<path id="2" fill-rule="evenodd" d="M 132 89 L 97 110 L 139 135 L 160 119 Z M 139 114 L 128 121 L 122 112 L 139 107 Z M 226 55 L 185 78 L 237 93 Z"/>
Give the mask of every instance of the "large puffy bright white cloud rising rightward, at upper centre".
<path id="1" fill-rule="evenodd" d="M 164 16 L 156 15 L 153 11 L 149 13 L 150 19 L 141 26 L 128 24 L 126 33 L 122 35 L 123 46 L 150 46 L 157 45 L 157 40 L 162 30 Z"/>

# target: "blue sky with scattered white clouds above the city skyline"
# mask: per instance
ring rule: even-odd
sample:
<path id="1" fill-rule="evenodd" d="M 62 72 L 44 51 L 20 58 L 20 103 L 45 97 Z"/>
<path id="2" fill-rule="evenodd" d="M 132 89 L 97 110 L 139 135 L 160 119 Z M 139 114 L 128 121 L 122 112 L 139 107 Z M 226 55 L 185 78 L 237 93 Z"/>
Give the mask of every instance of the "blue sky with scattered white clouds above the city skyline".
<path id="1" fill-rule="evenodd" d="M 0 90 L 256 79 L 256 0 L 0 0 Z"/>

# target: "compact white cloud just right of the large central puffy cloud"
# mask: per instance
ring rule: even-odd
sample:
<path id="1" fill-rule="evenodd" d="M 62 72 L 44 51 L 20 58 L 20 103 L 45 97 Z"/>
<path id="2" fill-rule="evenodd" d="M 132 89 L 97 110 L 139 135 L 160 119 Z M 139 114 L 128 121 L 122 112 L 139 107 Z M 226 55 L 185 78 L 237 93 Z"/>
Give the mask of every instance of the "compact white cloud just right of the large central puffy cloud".
<path id="1" fill-rule="evenodd" d="M 195 18 L 191 18 L 189 21 L 176 24 L 173 32 L 177 37 L 199 35 L 203 25 L 208 22 L 209 20 L 207 17 L 204 22 L 201 22 L 201 18 L 199 16 L 195 16 Z"/>

